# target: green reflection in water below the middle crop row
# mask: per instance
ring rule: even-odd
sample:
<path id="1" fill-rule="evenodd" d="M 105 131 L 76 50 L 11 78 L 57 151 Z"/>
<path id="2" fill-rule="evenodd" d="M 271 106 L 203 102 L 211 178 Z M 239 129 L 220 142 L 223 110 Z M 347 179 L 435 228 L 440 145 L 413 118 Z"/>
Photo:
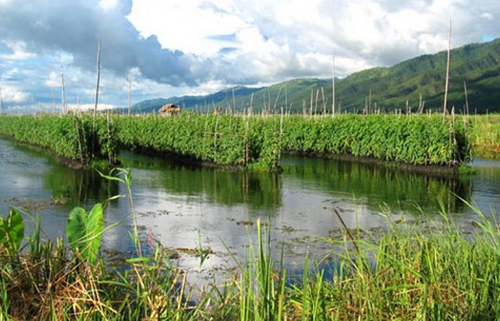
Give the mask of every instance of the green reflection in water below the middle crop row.
<path id="1" fill-rule="evenodd" d="M 149 156 L 124 154 L 126 167 L 158 170 L 149 178 L 171 193 L 205 194 L 210 201 L 225 205 L 248 204 L 251 208 L 279 208 L 281 183 L 279 175 L 268 172 L 233 172 L 214 168 L 190 167 Z"/>

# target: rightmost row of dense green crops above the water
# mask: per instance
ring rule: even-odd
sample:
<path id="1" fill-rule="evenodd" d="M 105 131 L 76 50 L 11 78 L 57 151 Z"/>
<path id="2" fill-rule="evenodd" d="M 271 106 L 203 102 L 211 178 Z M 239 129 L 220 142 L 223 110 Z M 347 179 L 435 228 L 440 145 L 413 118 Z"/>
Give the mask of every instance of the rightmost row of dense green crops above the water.
<path id="1" fill-rule="evenodd" d="M 469 161 L 463 122 L 439 116 L 341 115 L 284 118 L 283 148 L 299 153 L 346 154 L 414 165 Z"/>

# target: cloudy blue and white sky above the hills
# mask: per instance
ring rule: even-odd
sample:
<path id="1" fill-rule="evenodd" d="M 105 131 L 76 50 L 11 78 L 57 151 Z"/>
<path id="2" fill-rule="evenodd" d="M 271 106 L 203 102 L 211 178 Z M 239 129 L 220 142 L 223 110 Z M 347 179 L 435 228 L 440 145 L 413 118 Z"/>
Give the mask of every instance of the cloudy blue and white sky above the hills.
<path id="1" fill-rule="evenodd" d="M 204 95 L 500 36 L 498 0 L 0 0 L 0 112 Z M 64 83 L 64 86 L 63 86 Z M 64 88 L 64 91 L 63 91 Z"/>

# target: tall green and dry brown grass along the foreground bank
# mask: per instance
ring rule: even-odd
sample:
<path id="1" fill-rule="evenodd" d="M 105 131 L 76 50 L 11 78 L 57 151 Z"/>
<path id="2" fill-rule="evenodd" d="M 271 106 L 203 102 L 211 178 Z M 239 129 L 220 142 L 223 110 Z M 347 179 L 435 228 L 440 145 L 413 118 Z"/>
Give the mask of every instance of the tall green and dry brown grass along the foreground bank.
<path id="1" fill-rule="evenodd" d="M 36 219 L 19 243 L 14 213 L 1 225 L 0 320 L 498 320 L 495 218 L 478 210 L 472 234 L 444 211 L 431 228 L 397 224 L 376 241 L 346 230 L 324 240 L 334 270 L 304 258 L 300 280 L 288 277 L 282 252 L 271 253 L 270 227 L 258 220 L 238 272 L 194 300 L 186 273 L 158 243 L 148 242 L 151 255 L 140 252 L 136 230 L 131 258 L 91 264 L 62 240 L 41 240 Z"/>

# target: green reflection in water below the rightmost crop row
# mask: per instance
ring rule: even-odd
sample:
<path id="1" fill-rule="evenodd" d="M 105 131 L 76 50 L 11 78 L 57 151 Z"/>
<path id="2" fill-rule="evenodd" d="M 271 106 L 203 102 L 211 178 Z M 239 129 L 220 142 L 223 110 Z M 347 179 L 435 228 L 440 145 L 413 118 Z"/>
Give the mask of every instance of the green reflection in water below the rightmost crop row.
<path id="1" fill-rule="evenodd" d="M 325 190 L 339 191 L 366 198 L 369 205 L 379 208 L 386 203 L 394 209 L 415 210 L 419 204 L 436 209 L 438 199 L 450 211 L 463 208 L 459 195 L 470 199 L 471 190 L 464 180 L 432 178 L 426 175 L 403 173 L 384 166 L 364 165 L 329 159 L 297 158 L 300 165 L 284 166 L 286 175 L 304 182 L 314 182 Z"/>

